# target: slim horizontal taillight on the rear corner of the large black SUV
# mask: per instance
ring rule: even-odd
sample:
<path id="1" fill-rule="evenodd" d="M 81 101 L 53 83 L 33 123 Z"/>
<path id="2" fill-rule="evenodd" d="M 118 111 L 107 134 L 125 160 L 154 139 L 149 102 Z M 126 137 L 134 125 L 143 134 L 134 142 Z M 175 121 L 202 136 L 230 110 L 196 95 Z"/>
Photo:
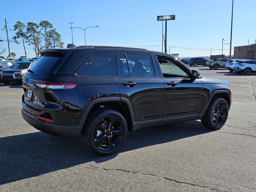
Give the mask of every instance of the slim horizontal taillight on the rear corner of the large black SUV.
<path id="1" fill-rule="evenodd" d="M 41 89 L 56 90 L 56 89 L 74 89 L 76 88 L 76 83 L 45 83 L 45 82 L 35 82 L 36 86 Z"/>

